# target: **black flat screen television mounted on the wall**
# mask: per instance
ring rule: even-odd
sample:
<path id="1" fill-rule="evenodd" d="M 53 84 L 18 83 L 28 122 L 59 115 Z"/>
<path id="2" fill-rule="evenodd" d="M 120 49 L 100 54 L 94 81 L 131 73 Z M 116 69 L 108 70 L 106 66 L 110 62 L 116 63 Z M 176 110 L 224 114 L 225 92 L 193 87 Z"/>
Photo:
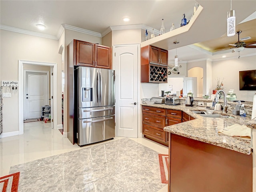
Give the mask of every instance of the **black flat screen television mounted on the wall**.
<path id="1" fill-rule="evenodd" d="M 256 90 L 256 70 L 239 71 L 239 90 Z"/>

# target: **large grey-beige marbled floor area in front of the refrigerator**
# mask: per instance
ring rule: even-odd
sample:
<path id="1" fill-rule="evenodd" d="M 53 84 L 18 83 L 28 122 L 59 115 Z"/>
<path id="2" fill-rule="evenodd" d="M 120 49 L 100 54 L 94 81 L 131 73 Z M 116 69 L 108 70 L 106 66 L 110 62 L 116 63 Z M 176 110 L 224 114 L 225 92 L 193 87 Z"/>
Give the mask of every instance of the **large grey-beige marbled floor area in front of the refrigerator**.
<path id="1" fill-rule="evenodd" d="M 129 138 L 10 168 L 20 172 L 19 192 L 158 192 L 158 152 Z"/>

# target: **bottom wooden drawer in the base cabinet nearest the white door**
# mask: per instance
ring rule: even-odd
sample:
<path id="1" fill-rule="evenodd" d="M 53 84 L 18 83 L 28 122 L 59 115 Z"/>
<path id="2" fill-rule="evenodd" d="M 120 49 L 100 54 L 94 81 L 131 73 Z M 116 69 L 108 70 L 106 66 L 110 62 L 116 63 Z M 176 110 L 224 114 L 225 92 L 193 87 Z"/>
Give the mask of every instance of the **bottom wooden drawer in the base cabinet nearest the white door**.
<path id="1" fill-rule="evenodd" d="M 158 140 L 161 140 L 163 142 L 166 141 L 166 132 L 157 127 L 153 127 L 147 124 L 142 124 L 142 133 L 144 135 L 157 138 Z"/>

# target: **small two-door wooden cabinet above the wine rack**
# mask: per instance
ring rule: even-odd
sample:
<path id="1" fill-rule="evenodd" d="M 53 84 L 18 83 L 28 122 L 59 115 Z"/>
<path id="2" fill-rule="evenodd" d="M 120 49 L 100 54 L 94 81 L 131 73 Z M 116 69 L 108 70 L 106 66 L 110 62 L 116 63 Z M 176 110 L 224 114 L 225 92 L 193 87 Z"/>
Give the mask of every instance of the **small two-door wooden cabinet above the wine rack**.
<path id="1" fill-rule="evenodd" d="M 149 51 L 149 63 L 151 64 L 160 64 L 160 65 L 168 65 L 168 51 L 154 47 L 154 46 L 146 46 L 142 48 L 143 51 Z"/>

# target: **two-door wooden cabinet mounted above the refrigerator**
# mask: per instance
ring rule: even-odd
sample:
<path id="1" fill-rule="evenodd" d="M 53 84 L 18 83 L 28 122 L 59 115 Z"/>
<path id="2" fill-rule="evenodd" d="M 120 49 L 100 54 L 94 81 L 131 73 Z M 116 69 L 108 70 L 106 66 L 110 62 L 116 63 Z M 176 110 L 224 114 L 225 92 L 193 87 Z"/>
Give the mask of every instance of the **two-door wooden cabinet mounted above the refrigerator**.
<path id="1" fill-rule="evenodd" d="M 80 40 L 74 40 L 73 46 L 74 65 L 112 69 L 110 47 Z"/>

